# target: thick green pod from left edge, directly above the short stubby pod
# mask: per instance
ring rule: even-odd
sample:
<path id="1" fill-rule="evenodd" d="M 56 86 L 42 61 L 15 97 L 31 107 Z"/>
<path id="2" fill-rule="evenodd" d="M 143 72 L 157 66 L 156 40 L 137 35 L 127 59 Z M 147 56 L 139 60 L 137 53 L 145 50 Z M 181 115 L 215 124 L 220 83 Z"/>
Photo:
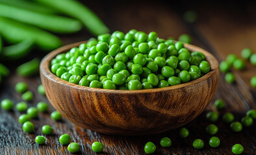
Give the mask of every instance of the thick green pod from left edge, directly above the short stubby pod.
<path id="1" fill-rule="evenodd" d="M 62 45 L 60 39 L 49 32 L 5 17 L 0 17 L 0 34 L 9 43 L 19 43 L 31 38 L 42 50 L 49 51 Z"/>

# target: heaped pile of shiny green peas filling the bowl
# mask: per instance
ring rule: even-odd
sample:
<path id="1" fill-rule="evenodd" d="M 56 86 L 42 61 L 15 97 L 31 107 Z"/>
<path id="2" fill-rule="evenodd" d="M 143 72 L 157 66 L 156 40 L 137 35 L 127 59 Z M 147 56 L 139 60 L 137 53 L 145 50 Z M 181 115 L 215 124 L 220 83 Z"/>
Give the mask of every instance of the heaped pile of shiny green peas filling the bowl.
<path id="1" fill-rule="evenodd" d="M 51 72 L 70 83 L 117 90 L 179 85 L 210 70 L 204 54 L 190 52 L 183 42 L 134 29 L 89 39 L 51 61 Z"/>

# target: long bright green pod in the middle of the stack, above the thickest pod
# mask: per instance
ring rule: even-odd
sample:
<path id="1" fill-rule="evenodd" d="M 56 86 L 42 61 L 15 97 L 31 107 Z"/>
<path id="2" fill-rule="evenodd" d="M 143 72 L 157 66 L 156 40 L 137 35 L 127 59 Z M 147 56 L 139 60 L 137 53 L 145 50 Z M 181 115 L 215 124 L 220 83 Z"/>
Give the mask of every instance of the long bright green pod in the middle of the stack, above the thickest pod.
<path id="1" fill-rule="evenodd" d="M 77 19 L 34 12 L 16 6 L 0 3 L 0 16 L 21 21 L 56 33 L 73 33 L 81 30 L 82 25 Z"/>

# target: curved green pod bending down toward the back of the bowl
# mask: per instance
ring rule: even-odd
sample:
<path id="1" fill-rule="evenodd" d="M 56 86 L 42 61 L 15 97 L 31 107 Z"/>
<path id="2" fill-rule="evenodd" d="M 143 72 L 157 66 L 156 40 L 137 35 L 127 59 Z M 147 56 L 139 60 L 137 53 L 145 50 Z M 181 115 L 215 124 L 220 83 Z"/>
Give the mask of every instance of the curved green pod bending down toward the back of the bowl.
<path id="1" fill-rule="evenodd" d="M 92 34 L 94 35 L 98 36 L 100 34 L 109 33 L 109 28 L 107 28 L 107 26 L 104 25 L 101 19 L 99 19 L 99 17 L 97 17 L 97 15 L 94 14 L 94 12 L 92 12 L 92 10 L 90 10 L 89 8 L 87 8 L 86 6 L 82 5 L 77 1 L 73 1 L 73 0 L 66 0 L 66 1 L 36 0 L 36 1 L 38 1 L 39 3 L 43 3 L 44 5 L 47 5 L 47 6 L 51 6 L 68 16 L 81 20 L 86 26 L 86 28 L 88 28 L 88 30 L 92 32 Z"/>

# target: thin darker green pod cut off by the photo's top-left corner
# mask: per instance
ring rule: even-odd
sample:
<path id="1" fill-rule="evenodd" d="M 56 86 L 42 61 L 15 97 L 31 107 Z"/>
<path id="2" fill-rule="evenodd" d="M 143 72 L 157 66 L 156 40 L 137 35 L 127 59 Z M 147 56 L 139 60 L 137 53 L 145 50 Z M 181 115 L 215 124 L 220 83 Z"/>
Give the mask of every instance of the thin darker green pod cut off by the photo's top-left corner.
<path id="1" fill-rule="evenodd" d="M 27 10 L 37 11 L 37 12 L 44 12 L 48 14 L 55 14 L 58 13 L 56 10 L 52 8 L 48 8 L 47 6 L 40 5 L 38 3 L 32 1 L 24 1 L 24 0 L 0 0 L 1 3 L 5 3 L 7 5 L 19 6 L 21 8 L 25 8 Z"/>

